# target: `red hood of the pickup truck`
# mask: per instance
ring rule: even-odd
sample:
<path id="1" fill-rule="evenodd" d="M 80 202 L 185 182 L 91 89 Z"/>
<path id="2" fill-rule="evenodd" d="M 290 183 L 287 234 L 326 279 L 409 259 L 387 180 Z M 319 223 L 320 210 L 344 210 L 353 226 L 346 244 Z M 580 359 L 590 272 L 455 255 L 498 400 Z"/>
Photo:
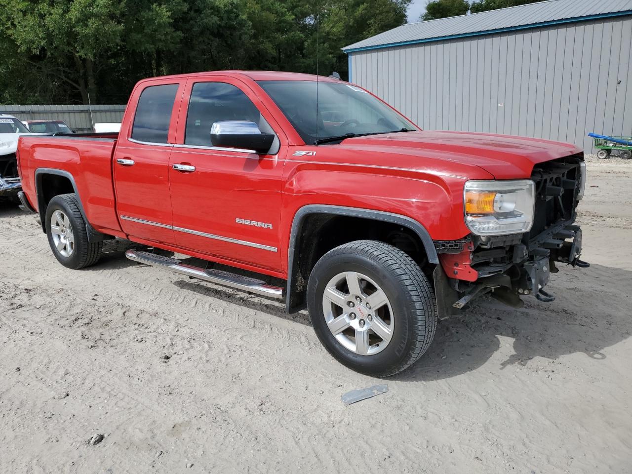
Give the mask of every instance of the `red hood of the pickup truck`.
<path id="1" fill-rule="evenodd" d="M 420 167 L 428 161 L 478 166 L 495 179 L 529 178 L 535 164 L 581 153 L 570 143 L 540 138 L 462 131 L 410 131 L 347 138 L 341 147 L 414 157 Z"/>

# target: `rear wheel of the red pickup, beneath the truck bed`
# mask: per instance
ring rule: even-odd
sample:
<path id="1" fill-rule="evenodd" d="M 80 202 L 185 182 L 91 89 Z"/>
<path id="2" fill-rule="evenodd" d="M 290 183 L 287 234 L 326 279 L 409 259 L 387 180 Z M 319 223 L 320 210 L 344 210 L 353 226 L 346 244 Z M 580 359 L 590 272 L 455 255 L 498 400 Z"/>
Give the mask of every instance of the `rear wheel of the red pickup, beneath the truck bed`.
<path id="1" fill-rule="evenodd" d="M 55 196 L 46 207 L 48 243 L 55 258 L 66 268 L 78 270 L 99 260 L 103 242 L 88 242 L 85 224 L 75 194 Z"/>

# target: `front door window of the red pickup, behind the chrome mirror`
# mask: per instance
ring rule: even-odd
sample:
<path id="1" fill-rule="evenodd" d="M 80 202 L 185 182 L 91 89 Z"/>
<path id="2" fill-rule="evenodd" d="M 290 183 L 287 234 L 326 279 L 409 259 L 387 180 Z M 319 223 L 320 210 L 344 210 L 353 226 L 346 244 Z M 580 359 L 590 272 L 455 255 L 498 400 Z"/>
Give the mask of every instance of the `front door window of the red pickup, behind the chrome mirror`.
<path id="1" fill-rule="evenodd" d="M 274 133 L 240 88 L 225 82 L 193 84 L 186 114 L 185 145 L 212 147 L 210 129 L 224 120 L 254 122 L 260 131 Z"/>

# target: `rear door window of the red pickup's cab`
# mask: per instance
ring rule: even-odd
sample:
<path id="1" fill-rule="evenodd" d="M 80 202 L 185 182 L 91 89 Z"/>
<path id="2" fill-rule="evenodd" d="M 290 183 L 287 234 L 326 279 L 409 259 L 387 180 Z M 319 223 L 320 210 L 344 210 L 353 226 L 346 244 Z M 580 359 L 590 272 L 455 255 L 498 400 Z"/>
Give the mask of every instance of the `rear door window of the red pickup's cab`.
<path id="1" fill-rule="evenodd" d="M 178 84 L 153 85 L 140 94 L 131 138 L 140 142 L 167 143 Z"/>

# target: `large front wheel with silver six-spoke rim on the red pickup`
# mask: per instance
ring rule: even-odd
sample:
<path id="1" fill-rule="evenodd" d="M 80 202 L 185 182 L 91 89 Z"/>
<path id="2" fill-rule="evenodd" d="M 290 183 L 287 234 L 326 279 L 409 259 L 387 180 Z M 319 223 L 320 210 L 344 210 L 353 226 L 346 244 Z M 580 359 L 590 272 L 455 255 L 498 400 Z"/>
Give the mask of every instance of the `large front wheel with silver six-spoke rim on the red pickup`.
<path id="1" fill-rule="evenodd" d="M 356 276 L 354 293 L 349 288 Z M 406 253 L 380 241 L 358 240 L 327 252 L 310 274 L 307 303 L 327 351 L 346 367 L 374 377 L 410 367 L 428 349 L 437 327 L 427 277 Z"/>

